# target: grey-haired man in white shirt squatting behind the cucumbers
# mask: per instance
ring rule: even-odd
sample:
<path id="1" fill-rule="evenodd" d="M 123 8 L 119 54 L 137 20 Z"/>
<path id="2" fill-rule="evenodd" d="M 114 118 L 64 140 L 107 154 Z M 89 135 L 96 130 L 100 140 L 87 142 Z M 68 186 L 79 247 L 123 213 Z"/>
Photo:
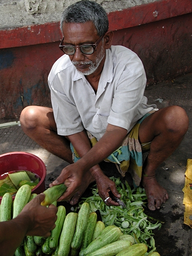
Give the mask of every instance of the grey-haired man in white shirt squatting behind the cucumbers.
<path id="1" fill-rule="evenodd" d="M 157 111 L 155 105 L 146 104 L 143 64 L 130 49 L 112 46 L 113 32 L 99 4 L 89 0 L 72 4 L 63 12 L 60 28 L 65 55 L 48 77 L 53 110 L 27 107 L 20 119 L 28 136 L 71 164 L 50 186 L 65 183 L 68 189 L 60 200 L 75 205 L 96 181 L 105 203 L 118 206 L 109 192 L 120 194 L 99 163 L 115 159 L 124 176 L 132 161 L 135 185 L 142 182 L 149 209 L 159 209 L 168 193 L 157 183 L 155 171 L 186 133 L 186 112 L 177 106 Z M 150 150 L 142 171 L 144 145 Z"/>

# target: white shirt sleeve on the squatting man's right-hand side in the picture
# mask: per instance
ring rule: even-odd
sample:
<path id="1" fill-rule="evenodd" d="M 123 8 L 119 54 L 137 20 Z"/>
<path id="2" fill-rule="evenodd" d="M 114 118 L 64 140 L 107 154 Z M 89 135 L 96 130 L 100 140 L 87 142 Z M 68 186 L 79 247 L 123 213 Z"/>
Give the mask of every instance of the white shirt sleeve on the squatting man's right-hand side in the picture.
<path id="1" fill-rule="evenodd" d="M 108 123 L 125 128 L 128 132 L 138 119 L 153 109 L 146 107 L 147 99 L 144 97 L 146 76 L 143 64 L 138 61 L 132 64 L 136 65 L 135 68 L 132 67 L 136 72 L 132 72 L 129 68 L 122 71 L 108 117 Z"/>

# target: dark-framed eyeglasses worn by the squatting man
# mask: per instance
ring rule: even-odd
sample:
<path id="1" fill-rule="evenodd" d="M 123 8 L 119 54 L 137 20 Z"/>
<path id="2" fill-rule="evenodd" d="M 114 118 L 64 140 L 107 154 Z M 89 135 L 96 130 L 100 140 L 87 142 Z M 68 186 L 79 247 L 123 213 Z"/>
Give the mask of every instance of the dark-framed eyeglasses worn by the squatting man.
<path id="1" fill-rule="evenodd" d="M 97 45 L 100 43 L 100 41 L 102 40 L 103 36 L 100 37 L 95 44 L 87 44 L 87 45 L 77 45 L 77 46 L 73 46 L 73 45 L 62 45 L 62 42 L 63 42 L 63 39 L 64 37 L 62 38 L 61 42 L 60 42 L 60 49 L 67 55 L 74 55 L 75 54 L 75 50 L 76 48 L 79 48 L 80 51 L 83 53 L 83 54 L 92 54 L 94 53 Z"/>

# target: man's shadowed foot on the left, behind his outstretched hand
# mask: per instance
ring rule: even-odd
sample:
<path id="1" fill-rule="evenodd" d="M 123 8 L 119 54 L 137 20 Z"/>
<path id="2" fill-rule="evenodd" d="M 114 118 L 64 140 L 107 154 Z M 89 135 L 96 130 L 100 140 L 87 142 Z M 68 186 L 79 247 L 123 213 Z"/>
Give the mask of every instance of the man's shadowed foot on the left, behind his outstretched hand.
<path id="1" fill-rule="evenodd" d="M 93 183 L 95 180 L 89 171 L 86 172 L 84 175 L 84 182 L 81 184 L 80 189 L 77 191 L 76 194 L 72 196 L 69 200 L 70 205 L 74 206 L 78 203 L 80 197 L 84 194 L 85 190 L 88 186 Z"/>

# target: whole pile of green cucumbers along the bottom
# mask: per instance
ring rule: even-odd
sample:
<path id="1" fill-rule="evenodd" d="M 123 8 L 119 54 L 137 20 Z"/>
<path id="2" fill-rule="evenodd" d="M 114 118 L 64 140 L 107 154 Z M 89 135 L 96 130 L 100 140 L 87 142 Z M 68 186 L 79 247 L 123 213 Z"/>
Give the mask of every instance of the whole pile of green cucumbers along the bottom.
<path id="1" fill-rule="evenodd" d="M 15 218 L 23 207 L 36 196 L 31 188 L 22 186 L 15 196 L 6 193 L 0 205 L 0 221 Z M 57 205 L 57 202 L 54 203 Z M 147 245 L 135 244 L 131 235 L 125 235 L 115 225 L 105 226 L 97 220 L 96 212 L 84 202 L 78 213 L 66 214 L 64 206 L 58 206 L 56 227 L 48 238 L 25 236 L 14 256 L 160 256 L 147 253 Z"/>

